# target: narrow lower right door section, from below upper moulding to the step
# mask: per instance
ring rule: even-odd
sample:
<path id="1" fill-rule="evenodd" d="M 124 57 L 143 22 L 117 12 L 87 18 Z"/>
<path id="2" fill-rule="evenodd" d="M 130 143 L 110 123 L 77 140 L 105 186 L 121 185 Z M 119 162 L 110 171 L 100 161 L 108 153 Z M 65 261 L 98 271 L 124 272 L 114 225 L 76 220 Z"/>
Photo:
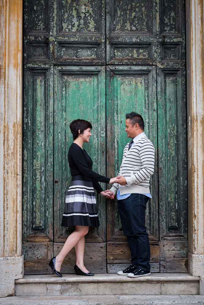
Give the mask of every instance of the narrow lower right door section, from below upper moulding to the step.
<path id="1" fill-rule="evenodd" d="M 187 242 L 184 242 L 187 241 L 187 140 L 183 80 L 182 70 L 158 69 L 158 177 L 159 202 L 162 203 L 159 208 L 159 231 L 162 272 L 187 272 L 187 251 L 182 250 L 183 247 L 187 249 Z M 177 255 L 169 257 L 167 249 L 172 246 L 174 249 L 175 245 Z"/>

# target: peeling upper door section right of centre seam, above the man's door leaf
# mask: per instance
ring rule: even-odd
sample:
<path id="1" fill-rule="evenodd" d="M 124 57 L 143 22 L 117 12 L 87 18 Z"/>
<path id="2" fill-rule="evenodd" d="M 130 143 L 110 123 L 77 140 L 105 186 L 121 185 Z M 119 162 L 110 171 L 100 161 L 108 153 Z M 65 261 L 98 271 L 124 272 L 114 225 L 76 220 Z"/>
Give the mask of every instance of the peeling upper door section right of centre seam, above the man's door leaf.
<path id="1" fill-rule="evenodd" d="M 106 63 L 156 64 L 156 1 L 106 0 Z"/>

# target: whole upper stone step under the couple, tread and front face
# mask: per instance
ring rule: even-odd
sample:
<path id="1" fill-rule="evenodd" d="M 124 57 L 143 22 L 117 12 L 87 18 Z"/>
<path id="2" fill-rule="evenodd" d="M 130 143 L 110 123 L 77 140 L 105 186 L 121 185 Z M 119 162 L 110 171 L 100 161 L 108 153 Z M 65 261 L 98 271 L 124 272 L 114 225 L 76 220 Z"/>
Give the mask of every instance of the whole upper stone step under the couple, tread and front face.
<path id="1" fill-rule="evenodd" d="M 64 274 L 25 275 L 15 281 L 15 296 L 198 295 L 199 277 L 187 273 L 152 273 L 128 278 L 117 274 L 93 277 Z"/>

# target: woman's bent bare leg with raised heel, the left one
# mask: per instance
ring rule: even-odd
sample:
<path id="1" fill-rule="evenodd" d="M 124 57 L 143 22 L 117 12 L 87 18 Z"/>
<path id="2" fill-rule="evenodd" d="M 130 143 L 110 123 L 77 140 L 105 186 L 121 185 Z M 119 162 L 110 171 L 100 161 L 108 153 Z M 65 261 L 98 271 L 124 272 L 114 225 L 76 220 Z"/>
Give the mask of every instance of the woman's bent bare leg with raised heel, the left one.
<path id="1" fill-rule="evenodd" d="M 69 235 L 60 253 L 56 256 L 55 269 L 60 272 L 61 264 L 69 251 L 88 233 L 89 227 L 76 226 L 75 231 Z"/>

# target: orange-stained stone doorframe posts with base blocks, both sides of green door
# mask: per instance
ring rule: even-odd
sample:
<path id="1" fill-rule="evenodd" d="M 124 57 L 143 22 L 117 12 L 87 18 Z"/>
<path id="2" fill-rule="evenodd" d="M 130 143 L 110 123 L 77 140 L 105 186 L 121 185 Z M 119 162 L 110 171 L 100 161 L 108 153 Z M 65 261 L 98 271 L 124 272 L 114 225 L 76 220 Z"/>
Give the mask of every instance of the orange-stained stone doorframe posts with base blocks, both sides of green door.
<path id="1" fill-rule="evenodd" d="M 186 0 L 188 270 L 204 294 L 204 0 Z M 14 295 L 22 255 L 23 0 L 0 0 L 0 296 Z"/>

